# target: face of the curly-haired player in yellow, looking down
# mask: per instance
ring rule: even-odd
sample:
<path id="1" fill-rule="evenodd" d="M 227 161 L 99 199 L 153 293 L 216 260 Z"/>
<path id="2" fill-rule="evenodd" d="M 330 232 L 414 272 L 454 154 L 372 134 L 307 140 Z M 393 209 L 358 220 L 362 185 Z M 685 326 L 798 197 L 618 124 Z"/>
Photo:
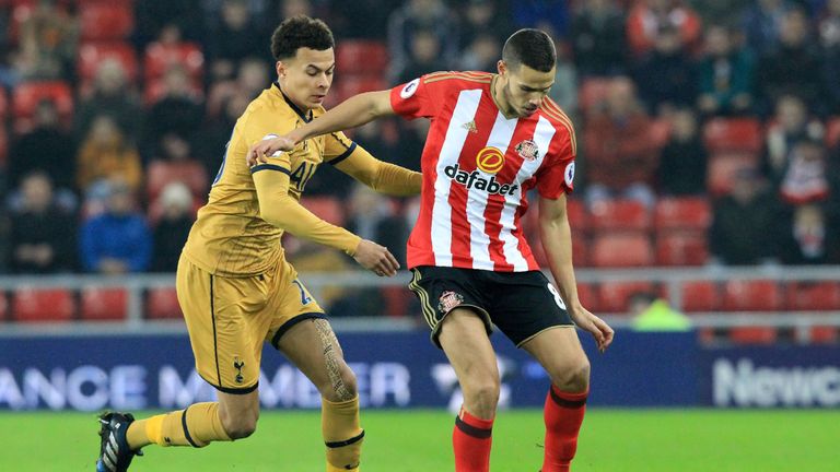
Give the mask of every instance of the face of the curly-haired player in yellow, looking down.
<path id="1" fill-rule="evenodd" d="M 332 48 L 299 48 L 291 59 L 277 63 L 283 93 L 303 109 L 317 108 L 332 85 L 336 57 Z"/>

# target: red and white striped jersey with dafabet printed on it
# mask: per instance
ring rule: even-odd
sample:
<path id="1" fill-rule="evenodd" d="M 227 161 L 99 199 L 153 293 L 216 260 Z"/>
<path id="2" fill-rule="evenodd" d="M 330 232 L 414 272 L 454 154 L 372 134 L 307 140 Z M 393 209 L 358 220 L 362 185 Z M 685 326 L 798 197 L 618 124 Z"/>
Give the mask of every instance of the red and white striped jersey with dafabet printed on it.
<path id="1" fill-rule="evenodd" d="M 527 192 L 572 191 L 576 143 L 569 117 L 549 98 L 508 119 L 492 96 L 495 74 L 435 72 L 390 91 L 394 110 L 424 117 L 420 214 L 408 267 L 498 272 L 538 270 L 522 232 Z"/>

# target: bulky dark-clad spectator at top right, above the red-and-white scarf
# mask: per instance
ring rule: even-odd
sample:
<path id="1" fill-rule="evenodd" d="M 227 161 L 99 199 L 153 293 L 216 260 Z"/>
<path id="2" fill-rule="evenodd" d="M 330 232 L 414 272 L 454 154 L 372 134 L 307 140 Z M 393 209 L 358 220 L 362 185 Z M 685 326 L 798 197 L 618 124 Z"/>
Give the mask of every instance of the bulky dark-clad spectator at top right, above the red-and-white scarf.
<path id="1" fill-rule="evenodd" d="M 812 109 L 825 111 L 822 58 L 808 37 L 808 17 L 802 10 L 789 11 L 782 22 L 779 47 L 759 59 L 758 95 L 765 113 L 770 104 L 788 94 L 802 97 Z"/>

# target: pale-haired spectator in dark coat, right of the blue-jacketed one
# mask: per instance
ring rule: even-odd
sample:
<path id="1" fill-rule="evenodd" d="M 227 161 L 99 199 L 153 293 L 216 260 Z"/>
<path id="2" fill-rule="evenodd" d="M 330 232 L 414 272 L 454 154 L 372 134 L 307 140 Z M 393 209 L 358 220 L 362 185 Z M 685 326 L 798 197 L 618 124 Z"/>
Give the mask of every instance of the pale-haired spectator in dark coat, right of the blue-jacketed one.
<path id="1" fill-rule="evenodd" d="M 192 213 L 192 194 L 182 182 L 171 182 L 160 197 L 163 214 L 154 227 L 153 272 L 175 272 L 189 229 L 196 220 Z"/>

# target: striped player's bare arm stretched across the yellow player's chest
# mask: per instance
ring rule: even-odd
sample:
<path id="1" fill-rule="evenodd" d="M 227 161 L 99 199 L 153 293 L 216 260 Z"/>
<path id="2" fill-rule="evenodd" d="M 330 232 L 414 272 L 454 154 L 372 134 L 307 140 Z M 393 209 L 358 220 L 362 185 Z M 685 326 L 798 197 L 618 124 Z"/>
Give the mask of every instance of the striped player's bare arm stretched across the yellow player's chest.
<path id="1" fill-rule="evenodd" d="M 291 151 L 298 143 L 312 137 L 355 128 L 386 115 L 394 115 L 390 91 L 365 92 L 352 96 L 289 134 L 255 144 L 246 156 L 248 165 L 277 151 Z"/>

